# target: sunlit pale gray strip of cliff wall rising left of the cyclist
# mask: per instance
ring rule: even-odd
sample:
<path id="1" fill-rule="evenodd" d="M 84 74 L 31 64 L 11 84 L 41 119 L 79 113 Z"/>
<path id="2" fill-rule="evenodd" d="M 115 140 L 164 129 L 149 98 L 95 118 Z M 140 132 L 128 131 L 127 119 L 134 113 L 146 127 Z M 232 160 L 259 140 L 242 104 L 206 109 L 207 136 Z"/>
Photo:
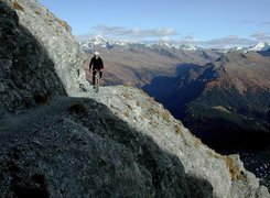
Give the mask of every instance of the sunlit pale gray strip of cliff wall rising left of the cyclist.
<path id="1" fill-rule="evenodd" d="M 10 0 L 19 15 L 19 24 L 26 28 L 46 48 L 54 69 L 67 94 L 87 87 L 82 65 L 86 56 L 80 51 L 65 21 L 57 19 L 36 0 Z"/>

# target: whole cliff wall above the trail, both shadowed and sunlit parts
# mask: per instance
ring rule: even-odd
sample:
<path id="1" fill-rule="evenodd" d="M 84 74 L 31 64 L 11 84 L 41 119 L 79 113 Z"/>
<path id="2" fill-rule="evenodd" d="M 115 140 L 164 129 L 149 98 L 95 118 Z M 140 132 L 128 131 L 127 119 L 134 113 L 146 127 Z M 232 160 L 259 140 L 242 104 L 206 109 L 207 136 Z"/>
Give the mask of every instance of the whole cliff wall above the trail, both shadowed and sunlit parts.
<path id="1" fill-rule="evenodd" d="M 65 22 L 35 0 L 1 0 L 0 9 L 0 117 L 87 89 L 85 55 Z"/>

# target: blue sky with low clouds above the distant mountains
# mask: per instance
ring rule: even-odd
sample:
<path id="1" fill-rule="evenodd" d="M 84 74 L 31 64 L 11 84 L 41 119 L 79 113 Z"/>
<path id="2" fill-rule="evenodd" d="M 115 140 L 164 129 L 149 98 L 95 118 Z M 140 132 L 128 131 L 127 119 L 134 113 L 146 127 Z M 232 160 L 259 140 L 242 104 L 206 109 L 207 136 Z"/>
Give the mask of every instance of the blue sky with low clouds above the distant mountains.
<path id="1" fill-rule="evenodd" d="M 270 42 L 270 0 L 39 0 L 78 37 L 246 46 Z"/>

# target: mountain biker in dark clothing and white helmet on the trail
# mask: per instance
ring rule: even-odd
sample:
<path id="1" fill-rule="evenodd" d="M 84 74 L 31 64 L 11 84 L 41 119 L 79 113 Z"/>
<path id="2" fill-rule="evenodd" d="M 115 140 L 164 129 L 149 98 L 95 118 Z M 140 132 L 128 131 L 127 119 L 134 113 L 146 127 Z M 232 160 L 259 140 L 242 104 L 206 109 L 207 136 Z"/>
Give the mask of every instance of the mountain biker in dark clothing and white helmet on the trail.
<path id="1" fill-rule="evenodd" d="M 102 62 L 101 57 L 99 56 L 99 52 L 94 53 L 94 57 L 91 58 L 90 64 L 89 64 L 89 70 L 93 74 L 93 86 L 94 86 L 94 88 L 95 88 L 95 77 L 97 74 L 97 69 L 100 72 L 99 74 L 100 74 L 100 81 L 101 81 L 102 70 L 104 70 L 104 62 Z"/>

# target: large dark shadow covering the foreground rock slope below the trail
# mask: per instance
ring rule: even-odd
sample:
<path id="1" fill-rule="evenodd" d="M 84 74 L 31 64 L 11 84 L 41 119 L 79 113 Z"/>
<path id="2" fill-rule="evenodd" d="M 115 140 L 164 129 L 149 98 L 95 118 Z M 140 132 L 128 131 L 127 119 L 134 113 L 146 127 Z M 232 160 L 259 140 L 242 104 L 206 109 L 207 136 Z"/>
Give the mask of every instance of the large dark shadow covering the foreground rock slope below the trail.
<path id="1" fill-rule="evenodd" d="M 213 197 L 207 180 L 187 175 L 176 156 L 106 106 L 66 97 L 46 109 L 2 143 L 1 195 Z"/>

